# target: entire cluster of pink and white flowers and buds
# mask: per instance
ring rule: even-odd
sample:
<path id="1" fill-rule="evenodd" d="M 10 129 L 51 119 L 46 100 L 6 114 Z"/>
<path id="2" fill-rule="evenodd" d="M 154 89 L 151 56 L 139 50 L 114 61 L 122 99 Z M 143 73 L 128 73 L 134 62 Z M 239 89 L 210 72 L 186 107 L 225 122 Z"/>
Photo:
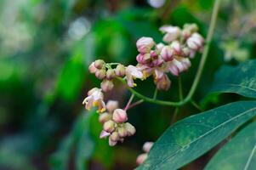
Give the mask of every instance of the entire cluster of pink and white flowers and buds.
<path id="1" fill-rule="evenodd" d="M 88 97 L 82 104 L 87 110 L 93 106 L 98 107 L 104 129 L 100 138 L 109 136 L 111 146 L 135 133 L 134 126 L 127 122 L 128 107 L 125 110 L 119 109 L 116 101 L 109 101 L 105 105 L 103 92 L 114 88 L 113 79 L 123 78 L 130 88 L 134 88 L 136 78 L 144 80 L 152 76 L 157 89 L 168 90 L 171 85 L 168 73 L 178 77 L 181 72 L 189 69 L 190 59 L 195 57 L 196 52 L 202 51 L 204 40 L 197 33 L 198 27 L 195 24 L 186 24 L 183 29 L 177 26 L 162 26 L 160 31 L 164 33 L 163 42 L 156 43 L 151 37 L 141 37 L 136 42 L 139 52 L 136 57 L 137 65 L 105 63 L 102 59 L 97 59 L 89 65 L 88 70 L 102 82 L 100 88 L 93 88 L 88 92 Z"/>

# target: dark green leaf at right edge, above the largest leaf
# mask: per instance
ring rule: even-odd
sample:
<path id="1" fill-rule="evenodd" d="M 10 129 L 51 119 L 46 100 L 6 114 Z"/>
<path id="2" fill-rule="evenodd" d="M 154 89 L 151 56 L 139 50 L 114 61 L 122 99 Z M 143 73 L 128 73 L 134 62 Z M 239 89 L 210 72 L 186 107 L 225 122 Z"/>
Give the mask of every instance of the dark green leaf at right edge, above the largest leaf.
<path id="1" fill-rule="evenodd" d="M 223 66 L 216 73 L 211 92 L 235 93 L 256 98 L 256 60 L 236 67 Z"/>

